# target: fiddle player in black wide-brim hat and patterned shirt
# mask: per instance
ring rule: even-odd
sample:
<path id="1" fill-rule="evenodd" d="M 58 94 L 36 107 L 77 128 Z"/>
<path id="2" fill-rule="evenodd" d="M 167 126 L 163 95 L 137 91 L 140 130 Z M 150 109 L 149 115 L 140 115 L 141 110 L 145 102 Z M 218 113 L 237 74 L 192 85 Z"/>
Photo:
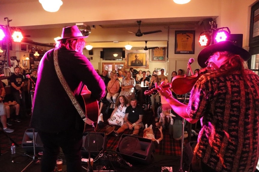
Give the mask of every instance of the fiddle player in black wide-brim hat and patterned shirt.
<path id="1" fill-rule="evenodd" d="M 202 119 L 189 171 L 255 171 L 259 157 L 259 77 L 245 65 L 250 57 L 231 41 L 204 48 L 198 63 L 214 70 L 196 81 L 188 105 L 172 98 L 169 88 L 159 86 L 178 115 L 190 123 Z"/>

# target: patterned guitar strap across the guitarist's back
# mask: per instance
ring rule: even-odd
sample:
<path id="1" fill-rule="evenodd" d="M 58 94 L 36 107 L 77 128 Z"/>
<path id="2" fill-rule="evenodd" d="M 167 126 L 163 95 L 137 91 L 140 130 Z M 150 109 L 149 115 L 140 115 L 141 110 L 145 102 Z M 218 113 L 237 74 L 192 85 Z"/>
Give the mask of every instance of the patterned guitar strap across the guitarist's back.
<path id="1" fill-rule="evenodd" d="M 66 80 L 59 68 L 58 49 L 57 48 L 54 49 L 54 66 L 55 66 L 56 74 L 59 78 L 60 83 L 62 84 L 67 95 L 69 96 L 70 100 L 72 101 L 72 104 L 75 106 L 75 109 L 77 110 L 77 112 L 79 113 L 79 115 L 81 116 L 83 121 L 85 121 L 86 120 L 85 113 L 84 113 L 83 109 L 81 108 L 81 106 L 79 105 L 78 101 L 76 100 L 75 95 L 73 94 L 72 90 L 68 86 L 68 83 L 66 82 Z"/>

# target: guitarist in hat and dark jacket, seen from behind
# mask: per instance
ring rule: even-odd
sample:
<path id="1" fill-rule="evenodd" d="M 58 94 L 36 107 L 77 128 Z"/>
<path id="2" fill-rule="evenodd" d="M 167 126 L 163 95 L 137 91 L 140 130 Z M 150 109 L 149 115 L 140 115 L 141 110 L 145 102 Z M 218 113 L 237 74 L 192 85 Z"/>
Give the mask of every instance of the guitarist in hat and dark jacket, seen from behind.
<path id="1" fill-rule="evenodd" d="M 63 28 L 56 48 L 47 51 L 40 61 L 30 126 L 37 129 L 44 146 L 41 172 L 54 171 L 60 147 L 66 156 L 67 171 L 82 170 L 84 121 L 56 74 L 53 58 L 57 57 L 64 80 L 76 97 L 86 85 L 91 98 L 102 99 L 104 81 L 83 55 L 86 37 L 76 25 Z"/>

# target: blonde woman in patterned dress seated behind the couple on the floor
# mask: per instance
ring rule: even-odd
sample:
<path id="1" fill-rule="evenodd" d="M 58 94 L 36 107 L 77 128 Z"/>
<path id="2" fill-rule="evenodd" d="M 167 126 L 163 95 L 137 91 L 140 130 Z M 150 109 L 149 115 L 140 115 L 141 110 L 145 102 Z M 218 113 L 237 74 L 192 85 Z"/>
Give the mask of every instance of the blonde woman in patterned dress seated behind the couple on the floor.
<path id="1" fill-rule="evenodd" d="M 130 72 L 127 72 L 126 77 L 121 83 L 120 95 L 124 95 L 129 101 L 131 98 L 135 97 L 134 87 L 136 85 L 135 79 L 132 77 Z"/>

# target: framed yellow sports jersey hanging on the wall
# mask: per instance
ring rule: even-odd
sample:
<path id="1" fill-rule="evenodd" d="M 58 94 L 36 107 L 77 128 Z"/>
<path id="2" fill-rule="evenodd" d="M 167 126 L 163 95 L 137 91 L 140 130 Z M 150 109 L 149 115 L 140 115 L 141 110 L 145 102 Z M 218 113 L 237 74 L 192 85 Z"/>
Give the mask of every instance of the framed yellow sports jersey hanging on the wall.
<path id="1" fill-rule="evenodd" d="M 175 31 L 175 54 L 194 54 L 195 31 Z"/>

